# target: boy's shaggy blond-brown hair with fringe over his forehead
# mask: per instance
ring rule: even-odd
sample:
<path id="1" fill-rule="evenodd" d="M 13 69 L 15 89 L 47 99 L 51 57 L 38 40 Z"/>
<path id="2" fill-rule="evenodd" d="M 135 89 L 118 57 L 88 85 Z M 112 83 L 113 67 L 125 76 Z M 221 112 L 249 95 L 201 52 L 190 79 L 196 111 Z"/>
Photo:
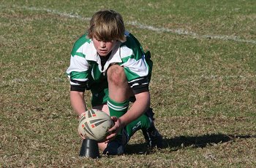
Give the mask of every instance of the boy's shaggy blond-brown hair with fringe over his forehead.
<path id="1" fill-rule="evenodd" d="M 118 12 L 113 10 L 100 10 L 96 12 L 90 21 L 88 37 L 101 41 L 126 41 L 124 36 L 124 21 Z"/>

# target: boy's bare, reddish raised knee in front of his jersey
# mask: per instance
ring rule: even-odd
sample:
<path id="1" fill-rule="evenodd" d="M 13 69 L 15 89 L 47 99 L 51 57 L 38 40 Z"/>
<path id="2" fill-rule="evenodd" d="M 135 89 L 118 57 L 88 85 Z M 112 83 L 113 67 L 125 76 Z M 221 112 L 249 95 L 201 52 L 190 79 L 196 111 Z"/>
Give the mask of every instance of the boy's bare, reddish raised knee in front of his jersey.
<path id="1" fill-rule="evenodd" d="M 108 68 L 108 83 L 112 83 L 115 85 L 122 85 L 127 83 L 127 77 L 124 73 L 124 68 L 119 65 L 111 65 Z"/>

